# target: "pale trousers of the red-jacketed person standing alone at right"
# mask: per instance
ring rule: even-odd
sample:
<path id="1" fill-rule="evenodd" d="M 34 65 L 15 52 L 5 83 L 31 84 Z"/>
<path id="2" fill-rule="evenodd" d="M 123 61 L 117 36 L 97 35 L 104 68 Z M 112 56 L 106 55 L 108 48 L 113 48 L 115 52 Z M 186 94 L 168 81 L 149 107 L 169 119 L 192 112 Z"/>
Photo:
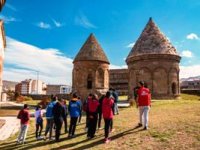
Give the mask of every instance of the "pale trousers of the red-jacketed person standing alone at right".
<path id="1" fill-rule="evenodd" d="M 149 110 L 150 106 L 139 106 L 139 118 L 140 123 L 142 123 L 142 117 L 144 118 L 144 126 L 148 127 L 148 120 L 149 120 Z"/>

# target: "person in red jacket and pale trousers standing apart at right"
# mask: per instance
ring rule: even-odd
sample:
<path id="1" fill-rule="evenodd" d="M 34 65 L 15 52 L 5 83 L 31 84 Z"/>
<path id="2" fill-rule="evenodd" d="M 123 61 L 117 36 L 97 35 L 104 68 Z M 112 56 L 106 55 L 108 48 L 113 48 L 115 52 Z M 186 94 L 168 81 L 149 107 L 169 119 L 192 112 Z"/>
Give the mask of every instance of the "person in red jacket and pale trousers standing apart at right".
<path id="1" fill-rule="evenodd" d="M 144 117 L 144 130 L 148 129 L 148 115 L 151 105 L 151 94 L 148 88 L 144 87 L 144 82 L 139 82 L 140 88 L 137 91 L 136 104 L 139 107 L 140 123 L 139 127 L 142 126 L 142 117 Z"/>

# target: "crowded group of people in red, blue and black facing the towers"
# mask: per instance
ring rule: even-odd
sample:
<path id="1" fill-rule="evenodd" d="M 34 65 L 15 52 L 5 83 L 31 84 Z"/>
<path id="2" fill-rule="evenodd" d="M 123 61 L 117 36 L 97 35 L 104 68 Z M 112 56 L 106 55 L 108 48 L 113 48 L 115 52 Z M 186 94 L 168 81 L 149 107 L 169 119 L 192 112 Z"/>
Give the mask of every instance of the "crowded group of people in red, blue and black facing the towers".
<path id="1" fill-rule="evenodd" d="M 87 138 L 91 139 L 95 136 L 96 129 L 101 129 L 102 117 L 105 122 L 105 143 L 110 141 L 109 132 L 113 130 L 113 115 L 118 114 L 116 102 L 118 95 L 113 91 L 108 91 L 106 95 L 100 98 L 96 94 L 89 94 L 85 101 L 81 101 L 76 93 L 73 94 L 68 106 L 65 100 L 52 97 L 51 102 L 46 108 L 46 129 L 44 137 L 41 136 L 43 130 L 43 112 L 40 106 L 35 109 L 35 136 L 37 140 L 47 139 L 49 133 L 50 140 L 60 140 L 61 128 L 64 122 L 65 133 L 68 133 L 69 138 L 75 137 L 77 122 L 81 121 L 82 110 L 86 113 L 86 131 Z M 69 130 L 67 128 L 67 115 L 70 115 Z M 24 117 L 26 115 L 27 117 Z M 24 109 L 19 112 L 18 118 L 21 119 L 21 131 L 18 136 L 18 143 L 24 143 L 29 124 L 28 105 L 24 105 Z M 25 118 L 25 119 L 24 119 Z M 25 120 L 25 121 L 24 121 Z M 52 136 L 52 131 L 55 129 L 55 138 Z"/>

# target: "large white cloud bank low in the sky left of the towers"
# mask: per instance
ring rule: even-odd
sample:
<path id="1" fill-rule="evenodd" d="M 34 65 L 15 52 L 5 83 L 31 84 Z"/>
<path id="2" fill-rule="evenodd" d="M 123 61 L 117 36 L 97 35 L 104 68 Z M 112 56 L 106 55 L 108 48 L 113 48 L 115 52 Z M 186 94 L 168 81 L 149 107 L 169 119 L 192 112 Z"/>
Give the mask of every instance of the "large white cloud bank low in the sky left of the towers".
<path id="1" fill-rule="evenodd" d="M 41 49 L 7 37 L 5 51 L 4 80 L 21 81 L 36 78 L 51 84 L 70 84 L 72 80 L 72 59 L 58 49 Z"/>

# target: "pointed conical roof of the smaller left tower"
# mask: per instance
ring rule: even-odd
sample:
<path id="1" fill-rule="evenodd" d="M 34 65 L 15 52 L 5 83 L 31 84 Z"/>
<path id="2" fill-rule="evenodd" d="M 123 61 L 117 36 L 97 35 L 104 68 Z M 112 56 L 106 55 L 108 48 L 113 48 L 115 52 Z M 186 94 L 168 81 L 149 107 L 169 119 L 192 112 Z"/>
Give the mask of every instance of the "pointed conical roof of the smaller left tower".
<path id="1" fill-rule="evenodd" d="M 93 34 L 90 34 L 86 42 L 83 44 L 80 51 L 76 55 L 74 62 L 85 60 L 102 61 L 110 64 L 106 54 Z"/>

